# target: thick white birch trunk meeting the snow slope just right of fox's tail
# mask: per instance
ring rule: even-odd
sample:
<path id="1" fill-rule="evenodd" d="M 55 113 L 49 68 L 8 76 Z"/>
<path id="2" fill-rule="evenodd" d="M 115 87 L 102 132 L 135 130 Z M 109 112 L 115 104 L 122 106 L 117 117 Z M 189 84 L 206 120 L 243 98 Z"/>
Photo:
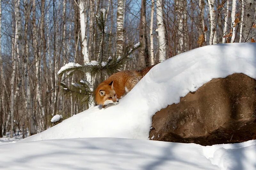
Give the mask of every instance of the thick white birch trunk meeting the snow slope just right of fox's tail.
<path id="1" fill-rule="evenodd" d="M 158 32 L 159 62 L 166 60 L 166 41 L 163 20 L 162 0 L 156 0 L 156 23 Z"/>

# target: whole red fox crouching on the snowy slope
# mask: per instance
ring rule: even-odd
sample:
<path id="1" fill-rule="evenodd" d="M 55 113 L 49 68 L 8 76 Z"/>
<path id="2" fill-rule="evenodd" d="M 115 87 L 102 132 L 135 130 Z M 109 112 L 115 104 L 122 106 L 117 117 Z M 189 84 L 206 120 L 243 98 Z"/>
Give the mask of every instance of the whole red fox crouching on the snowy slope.
<path id="1" fill-rule="evenodd" d="M 119 99 L 130 92 L 153 66 L 137 71 L 119 71 L 111 75 L 95 90 L 97 105 L 102 105 L 104 108 L 110 103 L 117 104 Z"/>

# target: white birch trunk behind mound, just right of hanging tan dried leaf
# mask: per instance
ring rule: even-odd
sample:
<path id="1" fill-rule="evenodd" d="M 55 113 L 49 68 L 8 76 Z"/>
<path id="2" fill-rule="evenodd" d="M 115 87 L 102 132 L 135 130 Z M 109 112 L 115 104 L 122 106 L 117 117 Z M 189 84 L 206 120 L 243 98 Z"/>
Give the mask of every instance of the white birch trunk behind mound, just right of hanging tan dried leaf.
<path id="1" fill-rule="evenodd" d="M 215 32 L 217 20 L 216 20 L 216 12 L 213 12 L 214 11 L 214 3 L 215 3 L 215 0 L 208 0 L 209 14 L 210 14 L 210 27 L 211 27 L 209 44 L 217 44 L 218 43 L 218 39 L 217 39 L 218 37 L 216 35 L 217 32 Z"/>

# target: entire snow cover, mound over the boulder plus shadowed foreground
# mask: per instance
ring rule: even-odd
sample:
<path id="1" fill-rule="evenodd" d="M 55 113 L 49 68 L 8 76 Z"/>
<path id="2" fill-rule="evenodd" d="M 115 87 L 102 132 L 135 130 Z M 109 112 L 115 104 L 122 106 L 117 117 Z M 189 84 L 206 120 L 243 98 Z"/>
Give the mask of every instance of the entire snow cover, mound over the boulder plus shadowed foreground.
<path id="1" fill-rule="evenodd" d="M 233 73 L 256 78 L 256 43 L 211 45 L 172 57 L 153 67 L 118 105 L 92 107 L 0 145 L 0 169 L 256 169 L 256 140 L 213 146 L 148 140 L 157 111 Z"/>

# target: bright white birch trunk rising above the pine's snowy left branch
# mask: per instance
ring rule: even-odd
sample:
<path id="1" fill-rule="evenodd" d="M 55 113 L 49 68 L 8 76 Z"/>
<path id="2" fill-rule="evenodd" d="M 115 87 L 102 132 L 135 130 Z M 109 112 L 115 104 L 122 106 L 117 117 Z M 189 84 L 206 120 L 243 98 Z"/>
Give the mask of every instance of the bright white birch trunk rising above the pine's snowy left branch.
<path id="1" fill-rule="evenodd" d="M 81 40 L 82 40 L 82 53 L 84 55 L 84 63 L 89 62 L 88 49 L 87 49 L 87 36 L 86 36 L 86 2 L 83 0 L 79 1 L 79 14 L 80 14 L 80 25 L 81 25 Z"/>

